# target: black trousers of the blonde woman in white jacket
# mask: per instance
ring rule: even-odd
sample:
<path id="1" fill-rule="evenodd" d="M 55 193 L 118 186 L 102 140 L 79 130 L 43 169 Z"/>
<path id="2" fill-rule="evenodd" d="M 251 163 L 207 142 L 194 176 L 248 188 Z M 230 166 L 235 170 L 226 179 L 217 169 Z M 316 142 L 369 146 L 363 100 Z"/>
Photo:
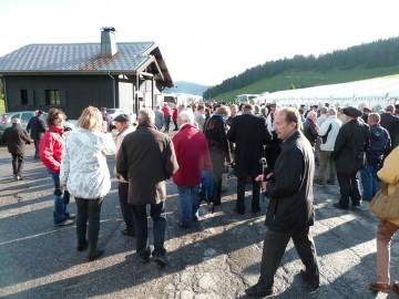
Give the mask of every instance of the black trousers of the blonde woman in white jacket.
<path id="1" fill-rule="evenodd" d="M 84 198 L 75 197 L 75 203 L 78 207 L 78 216 L 76 216 L 78 246 L 84 247 L 86 241 L 86 231 L 88 231 L 89 256 L 90 256 L 91 254 L 95 252 L 99 240 L 102 198 L 84 199 Z M 88 230 L 88 220 L 89 220 L 89 230 Z"/>

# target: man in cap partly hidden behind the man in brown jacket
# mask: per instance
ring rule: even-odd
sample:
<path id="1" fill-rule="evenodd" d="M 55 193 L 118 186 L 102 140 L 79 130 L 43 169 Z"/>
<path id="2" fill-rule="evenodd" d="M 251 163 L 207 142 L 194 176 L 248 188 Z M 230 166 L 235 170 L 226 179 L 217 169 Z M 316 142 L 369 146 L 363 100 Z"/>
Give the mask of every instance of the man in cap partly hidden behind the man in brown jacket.
<path id="1" fill-rule="evenodd" d="M 163 114 L 162 114 L 163 115 Z M 117 130 L 116 136 L 116 155 L 123 142 L 123 138 L 134 131 L 133 126 L 130 123 L 129 116 L 126 114 L 120 114 L 114 118 L 115 127 Z M 124 236 L 135 236 L 134 233 L 134 223 L 133 223 L 133 212 L 131 206 L 127 204 L 129 195 L 129 182 L 123 178 L 123 176 L 116 173 L 116 166 L 114 167 L 114 174 L 119 179 L 117 193 L 121 204 L 122 217 L 126 225 L 126 228 L 121 230 Z"/>

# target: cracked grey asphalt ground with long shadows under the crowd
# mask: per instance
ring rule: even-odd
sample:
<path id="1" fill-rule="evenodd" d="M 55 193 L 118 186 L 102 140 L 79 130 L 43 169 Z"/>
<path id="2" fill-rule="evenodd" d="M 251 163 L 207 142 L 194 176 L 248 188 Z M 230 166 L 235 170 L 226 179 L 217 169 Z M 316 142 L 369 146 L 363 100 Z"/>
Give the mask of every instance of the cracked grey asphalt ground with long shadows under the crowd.
<path id="1" fill-rule="evenodd" d="M 123 236 L 117 182 L 104 198 L 99 247 L 105 254 L 88 262 L 76 251 L 75 225 L 53 225 L 51 177 L 33 145 L 25 154 L 23 181 L 11 175 L 11 155 L 0 147 L 0 297 L 2 298 L 246 298 L 244 290 L 259 276 L 265 206 L 250 213 L 250 185 L 245 215 L 234 213 L 236 178 L 228 179 L 222 205 L 211 213 L 201 206 L 192 228 L 177 221 L 176 186 L 167 182 L 166 241 L 170 265 L 141 264 L 135 238 Z M 109 157 L 110 172 L 114 157 Z M 344 212 L 331 205 L 338 186 L 315 185 L 316 224 L 311 228 L 319 257 L 320 287 L 311 290 L 299 271 L 303 264 L 290 241 L 275 277 L 270 298 L 399 298 L 376 293 L 368 285 L 376 279 L 378 219 L 368 204 Z M 69 212 L 76 213 L 73 197 Z M 249 210 L 249 212 L 248 212 Z M 152 221 L 149 220 L 152 228 Z M 151 230 L 150 230 L 151 231 Z M 150 233 L 152 244 L 152 233 Z M 399 279 L 399 248 L 392 241 L 391 278 Z"/>

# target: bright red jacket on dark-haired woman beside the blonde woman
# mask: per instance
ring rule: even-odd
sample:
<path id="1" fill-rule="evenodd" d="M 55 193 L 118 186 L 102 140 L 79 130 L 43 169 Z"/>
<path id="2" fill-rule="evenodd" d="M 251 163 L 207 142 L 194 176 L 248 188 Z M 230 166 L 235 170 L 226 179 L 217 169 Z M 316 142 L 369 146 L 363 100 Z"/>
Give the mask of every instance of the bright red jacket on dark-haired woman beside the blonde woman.
<path id="1" fill-rule="evenodd" d="M 64 142 L 63 128 L 49 125 L 39 144 L 40 159 L 54 173 L 60 173 Z"/>

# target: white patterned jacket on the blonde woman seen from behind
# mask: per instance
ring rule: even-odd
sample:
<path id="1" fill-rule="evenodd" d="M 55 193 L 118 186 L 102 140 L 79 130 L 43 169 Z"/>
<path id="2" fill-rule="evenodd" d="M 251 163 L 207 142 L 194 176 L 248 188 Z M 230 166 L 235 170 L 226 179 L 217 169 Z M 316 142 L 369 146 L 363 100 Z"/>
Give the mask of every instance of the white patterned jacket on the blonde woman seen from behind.
<path id="1" fill-rule="evenodd" d="M 114 155 L 111 133 L 83 128 L 71 131 L 62 151 L 60 184 L 74 197 L 95 199 L 111 189 L 105 155 Z"/>

